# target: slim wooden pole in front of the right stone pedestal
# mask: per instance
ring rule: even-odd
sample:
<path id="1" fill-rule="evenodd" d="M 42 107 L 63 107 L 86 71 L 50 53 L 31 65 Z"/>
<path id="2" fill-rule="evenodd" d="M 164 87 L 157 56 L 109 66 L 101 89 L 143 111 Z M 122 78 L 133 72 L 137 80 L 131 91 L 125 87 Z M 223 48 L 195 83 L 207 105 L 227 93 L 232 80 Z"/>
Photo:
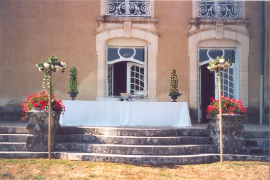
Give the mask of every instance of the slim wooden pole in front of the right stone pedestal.
<path id="1" fill-rule="evenodd" d="M 218 67 L 218 95 L 219 95 L 220 162 L 223 163 L 222 99 L 221 99 L 220 67 Z"/>

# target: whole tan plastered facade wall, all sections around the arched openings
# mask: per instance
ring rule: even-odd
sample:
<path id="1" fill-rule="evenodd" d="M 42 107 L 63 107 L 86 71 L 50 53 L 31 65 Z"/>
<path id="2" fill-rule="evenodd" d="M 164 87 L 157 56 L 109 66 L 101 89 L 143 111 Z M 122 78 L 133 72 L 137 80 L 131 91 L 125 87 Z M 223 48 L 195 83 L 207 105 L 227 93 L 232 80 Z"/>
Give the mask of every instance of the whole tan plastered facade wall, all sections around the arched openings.
<path id="1" fill-rule="evenodd" d="M 78 69 L 78 100 L 97 96 L 98 58 L 96 34 L 100 0 L 0 1 L 0 106 L 12 99 L 23 100 L 42 90 L 43 73 L 35 64 L 56 55 L 68 70 Z M 189 38 L 192 1 L 156 0 L 155 25 L 159 33 L 157 56 L 157 97 L 170 101 L 170 72 L 176 69 L 179 101 L 189 102 Z M 248 58 L 249 107 L 259 106 L 259 2 L 245 2 L 247 29 L 251 37 Z M 154 56 L 154 55 L 153 55 Z M 156 56 L 156 55 L 155 55 Z M 69 71 L 54 73 L 56 95 L 70 99 Z M 196 103 L 196 102 L 195 102 Z"/>

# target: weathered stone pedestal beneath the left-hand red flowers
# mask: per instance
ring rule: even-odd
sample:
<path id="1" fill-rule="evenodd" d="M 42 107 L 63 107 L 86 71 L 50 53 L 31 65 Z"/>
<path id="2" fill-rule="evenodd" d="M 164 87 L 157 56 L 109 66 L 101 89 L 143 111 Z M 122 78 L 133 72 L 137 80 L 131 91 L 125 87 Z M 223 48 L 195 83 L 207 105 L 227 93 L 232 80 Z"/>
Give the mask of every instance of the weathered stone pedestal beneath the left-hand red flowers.
<path id="1" fill-rule="evenodd" d="M 29 122 L 27 129 L 29 135 L 27 136 L 27 151 L 48 151 L 48 124 L 49 113 L 32 109 L 27 113 L 29 116 Z M 52 112 L 52 151 L 54 150 L 54 142 L 56 135 L 58 134 L 60 113 Z"/>

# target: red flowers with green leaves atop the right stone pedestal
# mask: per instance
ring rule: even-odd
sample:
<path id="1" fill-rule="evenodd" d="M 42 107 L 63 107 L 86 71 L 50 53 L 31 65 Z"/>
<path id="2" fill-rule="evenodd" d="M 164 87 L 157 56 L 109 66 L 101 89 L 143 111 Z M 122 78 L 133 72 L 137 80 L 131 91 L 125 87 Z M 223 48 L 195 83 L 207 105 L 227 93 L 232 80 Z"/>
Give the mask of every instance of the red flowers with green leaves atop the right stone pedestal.
<path id="1" fill-rule="evenodd" d="M 219 114 L 219 99 L 210 98 L 212 102 L 208 105 L 206 113 L 210 118 Z M 228 98 L 221 95 L 221 112 L 227 115 L 245 115 L 246 109 L 240 99 Z"/>

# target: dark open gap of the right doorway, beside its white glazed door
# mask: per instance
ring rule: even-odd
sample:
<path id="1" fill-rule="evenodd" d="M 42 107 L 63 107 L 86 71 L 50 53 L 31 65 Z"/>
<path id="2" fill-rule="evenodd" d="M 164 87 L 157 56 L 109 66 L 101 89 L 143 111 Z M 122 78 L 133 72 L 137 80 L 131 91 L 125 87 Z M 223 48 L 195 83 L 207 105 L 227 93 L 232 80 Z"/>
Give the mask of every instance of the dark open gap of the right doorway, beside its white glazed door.
<path id="1" fill-rule="evenodd" d="M 208 64 L 200 66 L 201 71 L 201 120 L 209 122 L 206 118 L 206 109 L 210 104 L 210 97 L 215 97 L 215 73 L 207 69 Z"/>

